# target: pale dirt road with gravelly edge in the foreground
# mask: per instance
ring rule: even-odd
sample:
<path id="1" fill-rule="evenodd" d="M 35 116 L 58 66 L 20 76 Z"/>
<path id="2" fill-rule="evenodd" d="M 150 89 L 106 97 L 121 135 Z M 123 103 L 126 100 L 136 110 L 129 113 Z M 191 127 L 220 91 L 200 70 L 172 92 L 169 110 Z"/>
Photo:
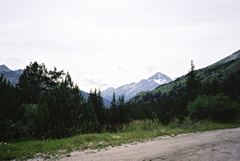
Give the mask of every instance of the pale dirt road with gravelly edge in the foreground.
<path id="1" fill-rule="evenodd" d="M 159 137 L 145 143 L 72 152 L 62 161 L 176 160 L 239 161 L 240 128 Z"/>

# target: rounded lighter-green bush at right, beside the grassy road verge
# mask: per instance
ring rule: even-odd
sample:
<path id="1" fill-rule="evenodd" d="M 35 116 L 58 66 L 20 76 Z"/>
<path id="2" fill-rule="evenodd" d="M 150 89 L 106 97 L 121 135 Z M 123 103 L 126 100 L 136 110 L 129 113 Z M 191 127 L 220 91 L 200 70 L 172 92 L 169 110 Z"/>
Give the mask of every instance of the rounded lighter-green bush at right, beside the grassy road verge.
<path id="1" fill-rule="evenodd" d="M 239 115 L 240 105 L 228 96 L 202 95 L 187 106 L 189 116 L 195 120 L 210 119 L 213 121 L 233 120 Z"/>

